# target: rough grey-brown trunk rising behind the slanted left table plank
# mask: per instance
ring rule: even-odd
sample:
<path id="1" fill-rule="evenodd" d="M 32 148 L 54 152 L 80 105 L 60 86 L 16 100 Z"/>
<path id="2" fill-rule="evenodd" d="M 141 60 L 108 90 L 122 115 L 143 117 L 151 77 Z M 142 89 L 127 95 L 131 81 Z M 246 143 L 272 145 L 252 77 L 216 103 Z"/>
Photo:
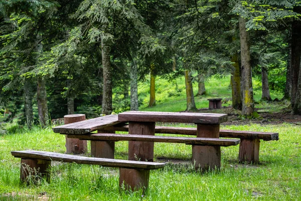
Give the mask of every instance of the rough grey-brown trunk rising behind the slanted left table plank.
<path id="1" fill-rule="evenodd" d="M 110 46 L 101 40 L 102 54 L 102 114 L 110 115 L 112 113 L 112 67 L 110 61 Z"/>

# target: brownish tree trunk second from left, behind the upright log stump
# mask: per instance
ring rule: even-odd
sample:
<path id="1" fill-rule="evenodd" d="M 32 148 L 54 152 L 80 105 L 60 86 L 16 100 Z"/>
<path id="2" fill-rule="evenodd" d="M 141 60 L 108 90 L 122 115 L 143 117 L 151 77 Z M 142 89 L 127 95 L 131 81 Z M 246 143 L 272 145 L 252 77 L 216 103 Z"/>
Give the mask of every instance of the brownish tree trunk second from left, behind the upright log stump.
<path id="1" fill-rule="evenodd" d="M 47 108 L 46 84 L 45 80 L 42 77 L 38 77 L 37 100 L 39 119 L 41 126 L 44 128 L 49 123 L 49 116 Z"/>

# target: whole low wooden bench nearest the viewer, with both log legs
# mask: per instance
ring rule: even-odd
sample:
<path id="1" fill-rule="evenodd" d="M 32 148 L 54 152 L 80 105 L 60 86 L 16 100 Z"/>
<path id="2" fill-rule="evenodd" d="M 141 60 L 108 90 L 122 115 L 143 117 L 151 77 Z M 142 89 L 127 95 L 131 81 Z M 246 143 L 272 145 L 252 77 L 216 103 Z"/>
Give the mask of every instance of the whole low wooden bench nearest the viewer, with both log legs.
<path id="1" fill-rule="evenodd" d="M 147 189 L 149 181 L 149 170 L 159 169 L 165 166 L 164 163 L 128 161 L 107 158 L 92 158 L 77 155 L 61 154 L 45 151 L 12 151 L 12 155 L 21 158 L 22 181 L 28 181 L 28 177 L 44 177 L 50 182 L 51 161 L 61 161 L 78 164 L 102 165 L 105 167 L 119 168 L 119 186 L 124 185 L 125 189 L 136 190 Z"/>

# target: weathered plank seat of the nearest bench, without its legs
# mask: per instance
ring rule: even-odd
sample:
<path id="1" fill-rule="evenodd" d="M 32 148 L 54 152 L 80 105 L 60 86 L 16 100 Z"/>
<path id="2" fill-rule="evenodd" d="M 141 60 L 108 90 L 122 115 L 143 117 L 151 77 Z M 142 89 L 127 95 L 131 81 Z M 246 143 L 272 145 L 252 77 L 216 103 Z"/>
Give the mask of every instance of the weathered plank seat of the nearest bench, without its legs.
<path id="1" fill-rule="evenodd" d="M 46 151 L 12 151 L 13 156 L 24 159 L 41 159 L 53 160 L 78 164 L 102 165 L 106 167 L 122 167 L 122 168 L 140 168 L 140 169 L 159 169 L 164 167 L 164 163 L 143 162 L 143 161 L 128 161 L 107 158 L 92 158 L 85 156 L 61 154 Z"/>

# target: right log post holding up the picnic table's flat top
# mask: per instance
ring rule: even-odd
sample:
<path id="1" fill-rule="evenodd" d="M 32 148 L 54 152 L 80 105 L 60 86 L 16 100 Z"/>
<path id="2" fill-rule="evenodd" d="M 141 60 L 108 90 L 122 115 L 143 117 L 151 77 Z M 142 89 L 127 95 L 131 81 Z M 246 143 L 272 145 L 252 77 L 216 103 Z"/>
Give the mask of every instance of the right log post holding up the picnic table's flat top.
<path id="1" fill-rule="evenodd" d="M 219 130 L 219 124 L 198 124 L 197 137 L 219 138 Z M 195 164 L 196 170 L 199 168 L 202 168 L 202 170 L 220 168 L 220 146 L 192 145 L 192 162 Z"/>

